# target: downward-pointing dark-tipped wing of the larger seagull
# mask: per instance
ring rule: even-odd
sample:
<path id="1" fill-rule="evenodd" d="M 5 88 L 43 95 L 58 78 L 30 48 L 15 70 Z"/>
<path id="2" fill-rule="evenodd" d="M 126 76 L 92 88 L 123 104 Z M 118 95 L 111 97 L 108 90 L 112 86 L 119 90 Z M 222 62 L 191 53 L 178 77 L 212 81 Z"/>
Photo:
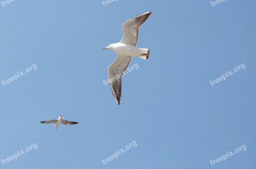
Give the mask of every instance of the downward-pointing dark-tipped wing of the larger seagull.
<path id="1" fill-rule="evenodd" d="M 112 82 L 109 82 L 110 88 L 118 105 L 120 105 L 120 100 L 122 96 L 122 77 L 128 66 L 130 65 L 131 60 L 131 56 L 124 56 L 117 53 L 116 60 L 108 66 L 108 79 L 112 79 Z"/>

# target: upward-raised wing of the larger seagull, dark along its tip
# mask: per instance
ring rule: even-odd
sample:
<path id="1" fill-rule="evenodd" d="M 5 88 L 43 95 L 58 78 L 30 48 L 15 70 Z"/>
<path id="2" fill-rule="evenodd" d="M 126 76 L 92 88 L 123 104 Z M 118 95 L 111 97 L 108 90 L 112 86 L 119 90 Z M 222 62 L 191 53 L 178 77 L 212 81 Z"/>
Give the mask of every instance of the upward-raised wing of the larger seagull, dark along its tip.
<path id="1" fill-rule="evenodd" d="M 127 20 L 123 25 L 122 29 L 124 32 L 123 39 L 120 41 L 123 44 L 137 45 L 140 25 L 142 25 L 151 15 L 152 12 L 142 13 Z"/>

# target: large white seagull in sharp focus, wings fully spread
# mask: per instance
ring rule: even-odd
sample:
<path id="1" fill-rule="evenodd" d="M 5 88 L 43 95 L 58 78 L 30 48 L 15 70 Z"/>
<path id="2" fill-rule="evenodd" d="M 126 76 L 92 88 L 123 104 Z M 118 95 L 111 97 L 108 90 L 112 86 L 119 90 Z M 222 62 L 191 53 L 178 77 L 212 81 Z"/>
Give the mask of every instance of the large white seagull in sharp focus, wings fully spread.
<path id="1" fill-rule="evenodd" d="M 117 53 L 116 60 L 108 66 L 108 81 L 116 103 L 120 105 L 122 77 L 130 65 L 133 56 L 148 59 L 150 49 L 137 48 L 140 26 L 148 19 L 152 12 L 142 13 L 129 20 L 123 25 L 124 36 L 118 43 L 109 44 L 104 49 L 113 50 Z"/>

